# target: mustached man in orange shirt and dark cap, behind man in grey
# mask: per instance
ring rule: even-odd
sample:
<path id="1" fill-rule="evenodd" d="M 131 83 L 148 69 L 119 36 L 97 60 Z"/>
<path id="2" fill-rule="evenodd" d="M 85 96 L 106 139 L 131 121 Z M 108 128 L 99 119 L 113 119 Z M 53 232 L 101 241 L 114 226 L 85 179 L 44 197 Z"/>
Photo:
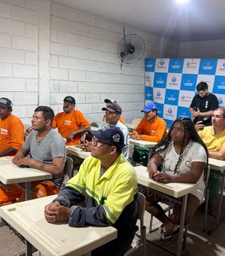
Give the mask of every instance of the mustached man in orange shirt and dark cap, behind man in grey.
<path id="1" fill-rule="evenodd" d="M 80 137 L 90 129 L 90 123 L 80 111 L 74 109 L 74 97 L 66 96 L 63 102 L 64 112 L 55 115 L 53 128 L 58 127 L 58 133 L 67 139 L 66 145 L 80 144 Z"/>

